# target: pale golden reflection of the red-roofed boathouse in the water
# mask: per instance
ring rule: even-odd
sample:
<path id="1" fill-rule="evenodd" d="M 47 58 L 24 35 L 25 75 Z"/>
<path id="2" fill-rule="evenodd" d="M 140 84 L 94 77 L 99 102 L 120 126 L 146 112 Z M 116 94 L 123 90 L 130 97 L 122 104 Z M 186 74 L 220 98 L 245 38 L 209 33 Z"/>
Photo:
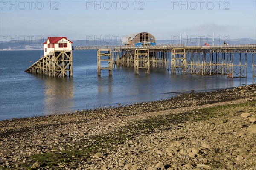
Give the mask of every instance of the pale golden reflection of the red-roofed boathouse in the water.
<path id="1" fill-rule="evenodd" d="M 73 107 L 73 78 L 43 76 L 46 112 L 43 115 L 65 113 Z"/>

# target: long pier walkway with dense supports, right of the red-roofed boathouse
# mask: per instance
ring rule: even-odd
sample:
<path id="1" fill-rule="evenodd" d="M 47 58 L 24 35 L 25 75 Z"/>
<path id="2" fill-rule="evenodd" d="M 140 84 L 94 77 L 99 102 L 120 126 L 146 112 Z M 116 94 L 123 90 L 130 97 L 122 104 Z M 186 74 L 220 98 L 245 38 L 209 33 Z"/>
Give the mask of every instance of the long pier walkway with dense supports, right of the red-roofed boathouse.
<path id="1" fill-rule="evenodd" d="M 226 75 L 247 78 L 247 58 L 252 58 L 252 76 L 256 77 L 256 45 L 218 46 L 79 46 L 75 50 L 111 49 L 112 63 L 117 67 L 170 70 L 172 74 Z M 147 51 L 146 54 L 138 53 Z M 99 69 L 99 67 L 98 67 Z M 99 74 L 98 74 L 99 75 Z"/>

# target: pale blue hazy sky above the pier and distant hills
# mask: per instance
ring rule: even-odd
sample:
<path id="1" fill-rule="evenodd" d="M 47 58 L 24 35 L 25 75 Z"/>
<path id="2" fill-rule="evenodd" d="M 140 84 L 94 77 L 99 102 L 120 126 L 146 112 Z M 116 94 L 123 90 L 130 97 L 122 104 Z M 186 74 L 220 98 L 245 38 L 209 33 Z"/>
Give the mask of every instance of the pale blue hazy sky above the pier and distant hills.
<path id="1" fill-rule="evenodd" d="M 149 32 L 157 40 L 256 39 L 256 0 L 0 0 L 0 40 L 108 39 Z"/>

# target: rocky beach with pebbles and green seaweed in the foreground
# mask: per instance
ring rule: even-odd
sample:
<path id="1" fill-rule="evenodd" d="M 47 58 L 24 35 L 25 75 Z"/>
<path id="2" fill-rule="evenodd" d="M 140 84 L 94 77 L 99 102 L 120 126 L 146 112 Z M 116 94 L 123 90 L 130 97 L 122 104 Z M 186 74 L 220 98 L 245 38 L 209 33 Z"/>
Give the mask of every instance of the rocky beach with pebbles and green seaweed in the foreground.
<path id="1" fill-rule="evenodd" d="M 256 170 L 256 86 L 0 121 L 0 170 Z"/>

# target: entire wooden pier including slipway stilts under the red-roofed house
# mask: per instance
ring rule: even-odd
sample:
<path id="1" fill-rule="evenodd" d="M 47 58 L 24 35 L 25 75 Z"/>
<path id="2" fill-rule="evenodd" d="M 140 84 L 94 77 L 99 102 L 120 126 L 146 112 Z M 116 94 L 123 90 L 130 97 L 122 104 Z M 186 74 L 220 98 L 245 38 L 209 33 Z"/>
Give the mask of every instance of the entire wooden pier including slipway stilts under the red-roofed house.
<path id="1" fill-rule="evenodd" d="M 134 68 L 134 74 L 150 69 L 166 69 L 172 74 L 226 75 L 247 78 L 247 58 L 252 58 L 252 78 L 256 78 L 256 45 L 218 46 L 79 46 L 74 50 L 97 49 L 97 74 L 108 69 Z M 108 67 L 102 67 L 108 62 Z M 54 77 L 72 77 L 72 51 L 52 51 L 25 70 Z"/>

